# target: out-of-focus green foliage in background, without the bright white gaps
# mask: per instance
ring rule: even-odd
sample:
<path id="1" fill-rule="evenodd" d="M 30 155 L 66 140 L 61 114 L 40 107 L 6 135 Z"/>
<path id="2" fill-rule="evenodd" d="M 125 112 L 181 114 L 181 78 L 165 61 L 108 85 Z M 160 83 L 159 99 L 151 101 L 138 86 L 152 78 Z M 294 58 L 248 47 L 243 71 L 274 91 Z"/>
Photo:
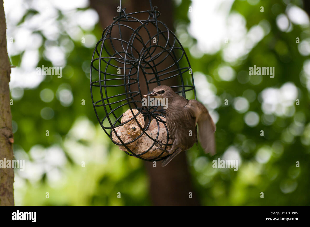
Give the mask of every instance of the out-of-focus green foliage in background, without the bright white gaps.
<path id="1" fill-rule="evenodd" d="M 292 2 L 303 7 L 301 1 Z M 190 4 L 189 0 L 176 4 L 176 28 L 179 24 L 190 23 L 187 13 Z M 264 7 L 264 13 L 260 12 L 260 6 Z M 272 11 L 272 7 L 276 10 Z M 195 190 L 202 205 L 309 205 L 309 91 L 300 76 L 308 56 L 300 55 L 296 44 L 296 37 L 300 37 L 301 41 L 309 37 L 309 27 L 296 25 L 290 32 L 280 31 L 276 18 L 286 13 L 286 3 L 281 0 L 265 0 L 256 5 L 236 0 L 232 11 L 245 17 L 248 29 L 267 20 L 270 32 L 244 59 L 231 64 L 237 75 L 232 81 L 219 79 L 218 68 L 225 63 L 222 51 L 196 59 L 189 54 L 190 46 L 185 47 L 193 72 L 210 75 L 206 76 L 207 81 L 215 85 L 216 96 L 221 101 L 221 105 L 214 110 L 219 116 L 216 124 L 217 154 L 210 157 L 203 154 L 202 149 L 198 152 L 195 146 L 187 151 Z M 23 26 L 36 14 L 35 9 L 29 8 L 18 26 Z M 58 11 L 57 21 L 61 24 L 62 20 L 63 15 Z M 99 39 L 102 31 L 96 24 L 91 33 Z M 38 49 L 38 66 L 53 66 L 43 55 L 47 38 L 40 31 L 33 32 L 43 38 Z M 196 40 L 190 34 L 189 37 L 194 45 Z M 26 159 L 27 167 L 24 172 L 15 171 L 15 204 L 150 205 L 148 176 L 143 161 L 126 155 L 113 145 L 95 117 L 89 88 L 89 63 L 93 47 L 87 48 L 80 40 L 72 39 L 66 31 L 54 42 L 60 45 L 68 39 L 74 48 L 65 55 L 62 78 L 46 76 L 38 87 L 25 89 L 22 98 L 14 99 L 11 106 L 15 158 Z M 23 52 L 10 56 L 11 63 L 20 66 L 22 56 Z M 249 67 L 254 65 L 273 66 L 276 76 L 262 76 L 260 83 L 252 83 L 250 78 L 245 83 L 239 80 L 242 76 L 239 72 L 247 73 Z M 295 105 L 295 114 L 271 114 L 274 121 L 264 124 L 263 118 L 266 116 L 261 108 L 260 93 L 268 87 L 280 88 L 288 81 L 298 88 L 300 105 Z M 40 92 L 46 88 L 55 95 L 49 103 L 40 98 Z M 69 89 L 73 94 L 73 103 L 69 106 L 63 106 L 59 101 L 61 88 Z M 243 96 L 247 89 L 255 92 L 255 101 L 250 102 L 247 110 L 259 115 L 259 123 L 255 127 L 249 127 L 244 122 L 246 113 L 236 111 L 232 105 L 234 98 Z M 81 104 L 82 99 L 85 105 Z M 228 99 L 228 106 L 224 105 L 224 99 Z M 49 120 L 41 117 L 44 107 L 54 111 Z M 301 116 L 301 122 L 298 116 Z M 292 133 L 296 122 L 302 124 L 299 134 Z M 46 136 L 46 130 L 49 136 Z M 264 131 L 263 137 L 260 136 L 261 130 Z M 222 158 L 232 147 L 242 160 L 238 171 L 212 168 L 212 160 Z M 58 156 L 54 155 L 56 151 Z M 269 155 L 269 159 L 259 162 L 259 155 Z M 296 161 L 300 162 L 299 168 Z M 85 167 L 82 167 L 82 162 L 85 162 Z M 49 199 L 46 198 L 47 192 Z M 118 192 L 121 192 L 121 199 L 117 198 Z M 261 192 L 264 199 L 260 198 Z"/>

